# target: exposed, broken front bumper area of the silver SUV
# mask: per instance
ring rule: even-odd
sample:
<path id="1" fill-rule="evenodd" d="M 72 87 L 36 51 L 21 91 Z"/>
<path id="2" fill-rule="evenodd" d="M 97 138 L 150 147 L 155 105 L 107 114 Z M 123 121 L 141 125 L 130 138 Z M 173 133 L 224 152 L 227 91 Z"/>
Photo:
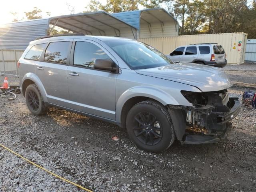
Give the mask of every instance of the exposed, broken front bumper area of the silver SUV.
<path id="1" fill-rule="evenodd" d="M 178 140 L 184 144 L 206 144 L 225 139 L 232 126 L 229 121 L 240 112 L 240 102 L 238 98 L 229 98 L 227 106 L 184 106 L 186 132 Z"/>

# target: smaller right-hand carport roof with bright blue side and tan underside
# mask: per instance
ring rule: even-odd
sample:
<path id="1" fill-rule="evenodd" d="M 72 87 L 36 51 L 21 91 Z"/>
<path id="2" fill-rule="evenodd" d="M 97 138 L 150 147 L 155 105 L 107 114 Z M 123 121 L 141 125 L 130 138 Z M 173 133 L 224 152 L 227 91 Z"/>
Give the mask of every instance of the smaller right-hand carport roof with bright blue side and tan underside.
<path id="1" fill-rule="evenodd" d="M 140 29 L 140 18 L 146 22 L 168 22 L 170 19 L 174 20 L 178 25 L 178 21 L 164 8 L 152 8 L 144 10 L 126 11 L 120 13 L 113 13 L 112 15 L 124 20 L 132 26 Z"/>

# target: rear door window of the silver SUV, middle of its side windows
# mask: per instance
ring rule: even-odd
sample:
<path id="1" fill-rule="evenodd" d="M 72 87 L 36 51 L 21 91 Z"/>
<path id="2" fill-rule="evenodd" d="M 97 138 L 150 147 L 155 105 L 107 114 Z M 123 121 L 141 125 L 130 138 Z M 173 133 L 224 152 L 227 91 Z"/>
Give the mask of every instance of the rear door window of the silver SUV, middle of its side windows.
<path id="1" fill-rule="evenodd" d="M 50 43 L 46 48 L 46 51 L 44 54 L 44 61 L 66 64 L 69 45 L 70 45 L 69 41 Z"/>

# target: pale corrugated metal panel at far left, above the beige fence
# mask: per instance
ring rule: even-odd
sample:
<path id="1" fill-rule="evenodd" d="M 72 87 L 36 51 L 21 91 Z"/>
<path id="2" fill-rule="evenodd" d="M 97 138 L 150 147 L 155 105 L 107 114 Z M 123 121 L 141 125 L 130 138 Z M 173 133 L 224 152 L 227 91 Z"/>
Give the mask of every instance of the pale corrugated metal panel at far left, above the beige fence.
<path id="1" fill-rule="evenodd" d="M 25 50 L 30 41 L 45 36 L 48 27 L 48 18 L 1 25 L 0 49 Z"/>

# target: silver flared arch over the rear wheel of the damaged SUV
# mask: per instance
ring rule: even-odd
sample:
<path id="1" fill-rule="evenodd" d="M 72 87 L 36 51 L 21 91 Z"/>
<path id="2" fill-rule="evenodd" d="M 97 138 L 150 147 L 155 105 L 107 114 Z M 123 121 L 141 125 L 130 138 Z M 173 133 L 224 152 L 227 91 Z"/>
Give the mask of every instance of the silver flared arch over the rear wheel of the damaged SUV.
<path id="1" fill-rule="evenodd" d="M 35 82 L 38 90 L 40 91 L 41 93 L 41 96 L 42 96 L 42 99 L 44 102 L 48 102 L 47 100 L 47 93 L 46 93 L 46 90 L 44 89 L 44 86 L 41 82 L 41 80 L 38 78 L 38 76 L 36 76 L 36 74 L 34 73 L 26 73 L 23 78 L 22 78 L 22 84 L 21 84 L 21 87 L 23 86 L 23 83 L 25 80 L 32 80 L 33 82 Z"/>

